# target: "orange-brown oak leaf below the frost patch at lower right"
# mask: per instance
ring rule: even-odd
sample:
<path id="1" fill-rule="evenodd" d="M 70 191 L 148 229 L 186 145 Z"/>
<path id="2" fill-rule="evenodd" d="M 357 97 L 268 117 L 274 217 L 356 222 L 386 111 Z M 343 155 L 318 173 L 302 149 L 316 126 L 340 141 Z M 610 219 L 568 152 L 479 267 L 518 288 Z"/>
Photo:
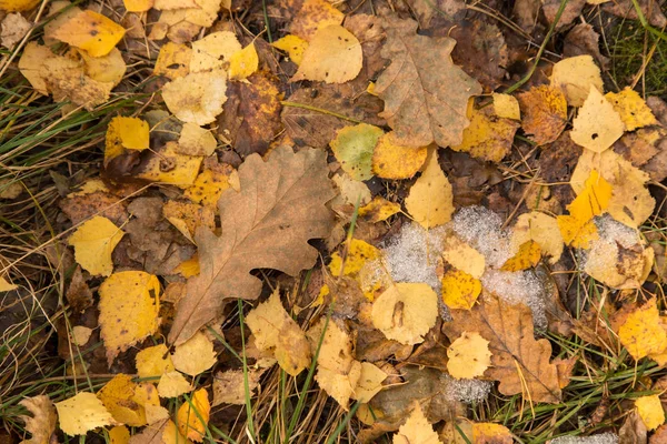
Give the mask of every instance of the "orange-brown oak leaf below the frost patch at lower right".
<path id="1" fill-rule="evenodd" d="M 500 393 L 521 393 L 534 402 L 560 400 L 558 370 L 549 362 L 551 344 L 544 339 L 535 340 L 530 309 L 524 304 L 510 305 L 486 293 L 472 310 L 452 310 L 451 316 L 454 321 L 442 325 L 450 340 L 476 331 L 489 341 L 491 366 L 485 375 L 500 382 Z"/>

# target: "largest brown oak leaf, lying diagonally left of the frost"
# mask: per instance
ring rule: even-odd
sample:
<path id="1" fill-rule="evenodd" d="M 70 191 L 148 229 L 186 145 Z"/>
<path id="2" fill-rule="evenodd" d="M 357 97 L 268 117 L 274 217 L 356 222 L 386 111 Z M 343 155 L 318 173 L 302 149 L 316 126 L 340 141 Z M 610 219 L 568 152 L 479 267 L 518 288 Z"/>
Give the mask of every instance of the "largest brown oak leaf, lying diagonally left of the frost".
<path id="1" fill-rule="evenodd" d="M 239 168 L 240 192 L 227 191 L 218 202 L 222 234 L 201 229 L 200 274 L 190 278 L 179 301 L 171 343 L 182 343 L 216 319 L 226 300 L 256 299 L 261 281 L 253 269 L 275 269 L 290 275 L 310 268 L 317 250 L 308 240 L 326 238 L 332 218 L 326 203 L 334 198 L 327 178 L 326 153 L 279 147 L 267 161 L 249 155 Z"/>

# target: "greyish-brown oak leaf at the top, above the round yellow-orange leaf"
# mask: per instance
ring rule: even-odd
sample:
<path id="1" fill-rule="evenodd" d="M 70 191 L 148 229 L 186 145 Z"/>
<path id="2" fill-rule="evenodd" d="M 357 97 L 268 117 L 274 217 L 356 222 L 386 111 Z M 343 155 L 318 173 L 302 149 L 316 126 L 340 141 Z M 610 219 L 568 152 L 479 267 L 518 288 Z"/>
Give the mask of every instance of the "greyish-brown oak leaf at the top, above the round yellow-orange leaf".
<path id="1" fill-rule="evenodd" d="M 389 19 L 387 42 L 381 56 L 391 64 L 375 83 L 375 93 L 385 101 L 386 118 L 395 141 L 406 147 L 458 145 L 468 99 L 481 93 L 481 85 L 451 61 L 456 41 L 416 33 L 417 22 Z"/>

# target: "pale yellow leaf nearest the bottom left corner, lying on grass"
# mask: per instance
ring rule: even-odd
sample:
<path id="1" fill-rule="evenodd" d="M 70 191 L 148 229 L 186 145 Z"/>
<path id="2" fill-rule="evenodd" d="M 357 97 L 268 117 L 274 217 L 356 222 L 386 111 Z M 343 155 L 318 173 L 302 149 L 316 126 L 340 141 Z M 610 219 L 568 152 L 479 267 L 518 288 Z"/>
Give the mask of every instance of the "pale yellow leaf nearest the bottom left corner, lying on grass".
<path id="1" fill-rule="evenodd" d="M 80 392 L 76 396 L 56 403 L 60 430 L 70 436 L 113 425 L 113 417 L 93 393 Z"/>

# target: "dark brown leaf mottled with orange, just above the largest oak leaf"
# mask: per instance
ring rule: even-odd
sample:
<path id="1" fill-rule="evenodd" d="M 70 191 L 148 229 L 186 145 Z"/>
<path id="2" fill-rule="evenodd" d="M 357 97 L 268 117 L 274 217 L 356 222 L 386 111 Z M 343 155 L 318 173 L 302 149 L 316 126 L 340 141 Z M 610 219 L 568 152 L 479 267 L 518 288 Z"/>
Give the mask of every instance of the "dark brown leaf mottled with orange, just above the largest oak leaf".
<path id="1" fill-rule="evenodd" d="M 280 131 L 280 100 L 277 81 L 265 72 L 247 82 L 230 82 L 227 102 L 218 117 L 218 132 L 231 141 L 242 157 L 263 155 Z"/>

